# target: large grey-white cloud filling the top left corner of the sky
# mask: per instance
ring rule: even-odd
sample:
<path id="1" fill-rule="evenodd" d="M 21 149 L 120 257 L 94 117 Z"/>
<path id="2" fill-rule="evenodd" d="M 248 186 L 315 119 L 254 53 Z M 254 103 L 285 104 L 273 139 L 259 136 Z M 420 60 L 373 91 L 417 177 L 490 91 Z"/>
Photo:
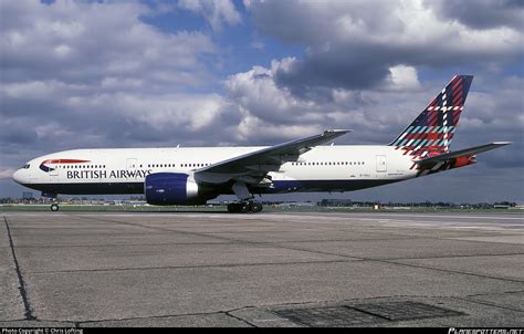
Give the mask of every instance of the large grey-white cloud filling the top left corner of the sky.
<path id="1" fill-rule="evenodd" d="M 142 88 L 209 80 L 199 56 L 213 54 L 213 42 L 200 32 L 161 33 L 140 21 L 147 13 L 129 2 L 2 2 L 2 80 L 93 85 L 112 77 L 147 82 Z"/>

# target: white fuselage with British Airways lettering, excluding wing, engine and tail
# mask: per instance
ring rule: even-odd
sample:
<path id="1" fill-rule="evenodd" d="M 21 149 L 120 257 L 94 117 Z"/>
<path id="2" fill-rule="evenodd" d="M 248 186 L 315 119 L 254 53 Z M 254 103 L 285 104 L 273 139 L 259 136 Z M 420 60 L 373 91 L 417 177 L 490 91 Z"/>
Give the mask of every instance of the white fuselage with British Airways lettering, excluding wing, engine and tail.
<path id="1" fill-rule="evenodd" d="M 13 178 L 50 194 L 144 194 L 155 173 L 192 174 L 199 168 L 264 147 L 74 149 L 32 159 Z M 416 176 L 410 156 L 394 146 L 317 146 L 269 174 L 275 186 L 252 192 L 348 191 Z M 69 163 L 71 161 L 71 163 Z M 224 194 L 230 194 L 224 191 Z"/>

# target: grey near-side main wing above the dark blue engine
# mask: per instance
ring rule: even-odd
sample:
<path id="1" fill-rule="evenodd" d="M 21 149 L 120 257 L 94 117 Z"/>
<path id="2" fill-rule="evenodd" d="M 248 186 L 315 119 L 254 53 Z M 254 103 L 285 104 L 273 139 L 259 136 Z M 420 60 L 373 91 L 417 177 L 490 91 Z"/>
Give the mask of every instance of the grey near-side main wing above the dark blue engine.
<path id="1" fill-rule="evenodd" d="M 296 161 L 300 155 L 314 146 L 325 144 L 349 132 L 350 129 L 329 129 L 316 136 L 265 147 L 199 168 L 195 170 L 195 179 L 205 182 L 226 182 L 244 177 L 245 182 L 259 182 L 269 171 L 279 170 L 282 164 Z"/>

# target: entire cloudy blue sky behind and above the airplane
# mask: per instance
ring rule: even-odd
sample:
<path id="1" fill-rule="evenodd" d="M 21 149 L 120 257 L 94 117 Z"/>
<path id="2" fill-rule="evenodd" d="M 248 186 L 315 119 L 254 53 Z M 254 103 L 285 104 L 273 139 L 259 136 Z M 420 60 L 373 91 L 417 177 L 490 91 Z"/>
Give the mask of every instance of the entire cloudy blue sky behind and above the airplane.
<path id="1" fill-rule="evenodd" d="M 524 202 L 524 2 L 0 0 L 0 197 L 25 161 L 91 147 L 388 144 L 474 75 L 451 149 L 474 166 L 284 199 Z M 271 199 L 271 197 L 269 198 Z"/>

